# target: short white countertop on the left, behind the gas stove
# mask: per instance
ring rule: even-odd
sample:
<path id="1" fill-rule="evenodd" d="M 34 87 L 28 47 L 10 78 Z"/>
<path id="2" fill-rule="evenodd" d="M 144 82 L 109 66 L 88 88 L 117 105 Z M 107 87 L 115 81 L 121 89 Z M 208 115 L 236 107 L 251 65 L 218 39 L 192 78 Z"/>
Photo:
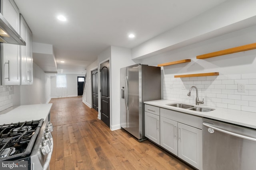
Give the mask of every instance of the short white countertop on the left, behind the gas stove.
<path id="1" fill-rule="evenodd" d="M 23 121 L 44 119 L 50 112 L 52 104 L 33 104 L 14 106 L 0 113 L 0 125 Z"/>

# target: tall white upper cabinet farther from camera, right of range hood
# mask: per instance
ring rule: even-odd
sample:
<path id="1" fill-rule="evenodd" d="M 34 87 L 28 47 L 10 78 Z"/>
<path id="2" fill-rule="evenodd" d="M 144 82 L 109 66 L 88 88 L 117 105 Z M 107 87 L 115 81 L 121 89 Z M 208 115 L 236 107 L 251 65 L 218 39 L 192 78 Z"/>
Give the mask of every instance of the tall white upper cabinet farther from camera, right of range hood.
<path id="1" fill-rule="evenodd" d="M 26 42 L 26 46 L 20 46 L 20 84 L 33 84 L 33 58 L 32 58 L 32 32 L 26 21 L 20 15 L 20 36 Z"/>

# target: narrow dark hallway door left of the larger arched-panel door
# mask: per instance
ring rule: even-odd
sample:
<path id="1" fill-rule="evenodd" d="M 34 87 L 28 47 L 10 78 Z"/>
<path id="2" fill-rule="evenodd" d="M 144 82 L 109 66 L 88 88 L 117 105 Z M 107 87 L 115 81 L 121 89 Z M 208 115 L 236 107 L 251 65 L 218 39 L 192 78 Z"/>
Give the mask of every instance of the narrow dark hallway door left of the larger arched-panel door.
<path id="1" fill-rule="evenodd" d="M 92 70 L 92 108 L 98 111 L 98 68 Z"/>

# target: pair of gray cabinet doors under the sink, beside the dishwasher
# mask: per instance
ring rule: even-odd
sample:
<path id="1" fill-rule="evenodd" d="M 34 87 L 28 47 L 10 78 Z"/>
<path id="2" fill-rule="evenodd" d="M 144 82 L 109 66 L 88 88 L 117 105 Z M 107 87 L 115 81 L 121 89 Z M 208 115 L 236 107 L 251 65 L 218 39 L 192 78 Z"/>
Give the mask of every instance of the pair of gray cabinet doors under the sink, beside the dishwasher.
<path id="1" fill-rule="evenodd" d="M 160 116 L 160 146 L 192 166 L 202 168 L 201 129 Z"/>

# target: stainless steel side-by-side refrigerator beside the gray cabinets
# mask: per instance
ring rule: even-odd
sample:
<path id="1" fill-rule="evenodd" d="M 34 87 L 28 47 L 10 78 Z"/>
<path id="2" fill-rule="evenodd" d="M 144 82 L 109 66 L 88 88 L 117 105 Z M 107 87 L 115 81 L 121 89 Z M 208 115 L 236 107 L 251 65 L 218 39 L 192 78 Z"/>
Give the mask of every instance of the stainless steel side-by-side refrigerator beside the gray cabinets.
<path id="1" fill-rule="evenodd" d="M 135 64 L 120 69 L 120 124 L 139 141 L 144 135 L 144 102 L 161 99 L 161 69 Z"/>

